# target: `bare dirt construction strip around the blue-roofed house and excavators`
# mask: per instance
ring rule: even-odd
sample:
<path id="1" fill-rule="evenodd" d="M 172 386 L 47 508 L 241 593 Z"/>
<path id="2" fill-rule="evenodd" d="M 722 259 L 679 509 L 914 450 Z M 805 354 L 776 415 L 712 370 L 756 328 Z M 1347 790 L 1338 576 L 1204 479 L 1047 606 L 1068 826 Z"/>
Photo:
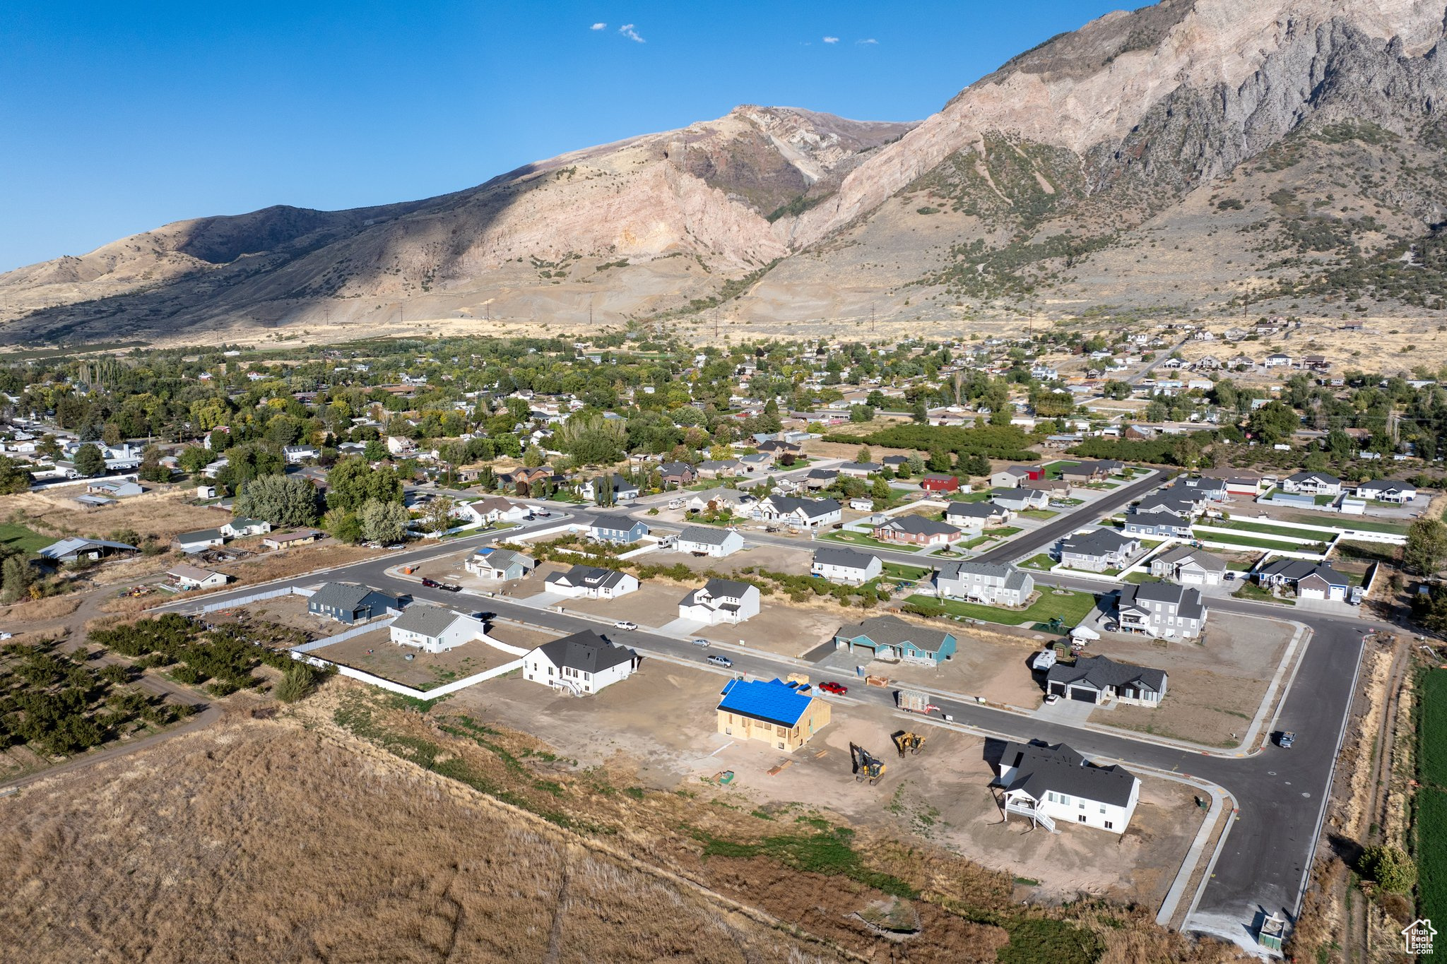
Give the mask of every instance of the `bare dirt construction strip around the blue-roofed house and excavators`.
<path id="1" fill-rule="evenodd" d="M 527 730 L 582 766 L 634 770 L 660 789 L 702 789 L 734 770 L 725 802 L 765 812 L 818 809 L 862 824 L 904 830 L 990 867 L 1039 882 L 1040 896 L 1110 895 L 1146 905 L 1169 887 L 1200 817 L 1178 783 L 1143 780 L 1142 802 L 1123 837 L 1066 827 L 1052 835 L 1011 819 L 1003 825 L 984 760 L 984 741 L 928 727 L 920 756 L 899 760 L 890 734 L 904 720 L 881 708 L 835 702 L 833 718 L 793 756 L 716 733 L 726 678 L 645 660 L 631 679 L 576 698 L 521 678 L 479 684 L 449 698 L 450 710 Z M 857 783 L 849 743 L 880 754 L 877 786 Z M 784 765 L 776 775 L 768 770 Z"/>

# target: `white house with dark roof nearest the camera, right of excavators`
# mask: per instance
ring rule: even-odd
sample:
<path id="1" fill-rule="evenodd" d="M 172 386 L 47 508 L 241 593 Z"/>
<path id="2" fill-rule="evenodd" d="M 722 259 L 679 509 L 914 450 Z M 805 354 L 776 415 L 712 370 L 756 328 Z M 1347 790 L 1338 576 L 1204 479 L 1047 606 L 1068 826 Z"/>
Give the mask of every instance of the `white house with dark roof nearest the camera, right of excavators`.
<path id="1" fill-rule="evenodd" d="M 1006 743 L 997 782 L 1007 819 L 1017 814 L 1046 830 L 1065 822 L 1123 834 L 1140 801 L 1140 780 L 1133 773 L 1119 765 L 1088 763 L 1064 743 Z"/>

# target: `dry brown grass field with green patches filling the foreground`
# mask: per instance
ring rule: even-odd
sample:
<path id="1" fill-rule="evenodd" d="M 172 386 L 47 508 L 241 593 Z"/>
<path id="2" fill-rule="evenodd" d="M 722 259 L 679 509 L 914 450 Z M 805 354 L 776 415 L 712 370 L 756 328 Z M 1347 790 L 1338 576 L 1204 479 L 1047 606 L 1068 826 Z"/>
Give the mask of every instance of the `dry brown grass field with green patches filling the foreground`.
<path id="1" fill-rule="evenodd" d="M 67 963 L 1231 958 L 1149 909 L 1022 908 L 1009 874 L 917 840 L 637 786 L 447 704 L 423 714 L 340 679 L 271 718 L 247 700 L 0 801 L 6 947 Z M 912 934 L 862 919 L 884 911 Z M 1059 948 L 1098 954 L 1039 957 Z"/>

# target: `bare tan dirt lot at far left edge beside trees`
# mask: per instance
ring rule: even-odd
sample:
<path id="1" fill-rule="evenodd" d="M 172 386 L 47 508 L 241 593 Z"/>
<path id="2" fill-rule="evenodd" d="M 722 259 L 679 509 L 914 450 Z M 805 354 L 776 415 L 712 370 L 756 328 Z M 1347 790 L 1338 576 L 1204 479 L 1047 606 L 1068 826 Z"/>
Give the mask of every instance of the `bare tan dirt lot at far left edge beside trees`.
<path id="1" fill-rule="evenodd" d="M 152 487 L 150 483 L 148 487 Z M 101 509 L 87 509 L 77 503 L 75 496 L 84 491 L 82 486 L 75 486 L 0 496 L 0 519 L 14 519 L 55 538 L 133 529 L 140 536 L 153 535 L 169 541 L 178 532 L 211 529 L 232 517 L 229 512 L 190 504 L 195 497 L 195 489 L 161 486 Z"/>

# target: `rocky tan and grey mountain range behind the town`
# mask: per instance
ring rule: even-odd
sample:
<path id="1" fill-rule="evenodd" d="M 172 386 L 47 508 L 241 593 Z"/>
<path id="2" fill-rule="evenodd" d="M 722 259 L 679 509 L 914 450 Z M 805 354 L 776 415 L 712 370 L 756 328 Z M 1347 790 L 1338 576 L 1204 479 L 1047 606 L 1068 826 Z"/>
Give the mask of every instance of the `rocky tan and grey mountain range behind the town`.
<path id="1" fill-rule="evenodd" d="M 0 275 L 0 324 L 1434 312 L 1444 25 L 1440 0 L 1165 0 L 919 124 L 747 106 L 427 201 L 182 221 Z"/>

